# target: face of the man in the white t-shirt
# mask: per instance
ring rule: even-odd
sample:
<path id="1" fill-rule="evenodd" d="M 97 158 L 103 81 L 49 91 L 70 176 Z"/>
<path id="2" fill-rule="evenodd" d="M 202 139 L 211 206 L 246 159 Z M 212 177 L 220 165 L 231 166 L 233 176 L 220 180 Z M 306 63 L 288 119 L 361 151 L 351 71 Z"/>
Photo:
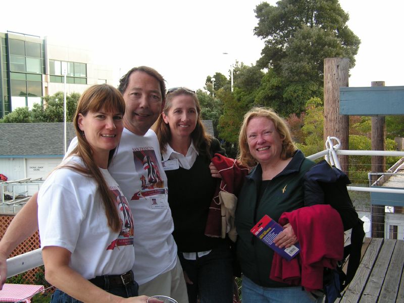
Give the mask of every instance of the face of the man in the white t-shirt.
<path id="1" fill-rule="evenodd" d="M 163 96 L 159 81 L 145 72 L 133 72 L 122 95 L 126 105 L 125 127 L 143 136 L 162 110 Z"/>

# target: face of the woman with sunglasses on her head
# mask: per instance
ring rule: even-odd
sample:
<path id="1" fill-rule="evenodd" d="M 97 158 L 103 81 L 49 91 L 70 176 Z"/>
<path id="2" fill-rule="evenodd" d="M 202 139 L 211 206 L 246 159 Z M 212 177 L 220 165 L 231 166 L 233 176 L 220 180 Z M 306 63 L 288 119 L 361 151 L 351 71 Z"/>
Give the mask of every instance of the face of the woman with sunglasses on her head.
<path id="1" fill-rule="evenodd" d="M 162 116 L 164 122 L 170 126 L 172 140 L 190 139 L 198 119 L 194 98 L 189 94 L 173 97 L 171 107 Z"/>

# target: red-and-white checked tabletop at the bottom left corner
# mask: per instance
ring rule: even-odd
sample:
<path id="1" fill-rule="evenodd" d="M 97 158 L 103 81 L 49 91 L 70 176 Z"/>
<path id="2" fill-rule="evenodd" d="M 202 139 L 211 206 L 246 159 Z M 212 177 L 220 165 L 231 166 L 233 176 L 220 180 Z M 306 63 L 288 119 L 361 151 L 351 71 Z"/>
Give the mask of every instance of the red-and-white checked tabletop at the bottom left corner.
<path id="1" fill-rule="evenodd" d="M 40 290 L 44 290 L 43 285 L 6 283 L 0 290 L 0 301 L 18 302 L 24 300 L 24 302 L 30 303 L 31 297 Z"/>

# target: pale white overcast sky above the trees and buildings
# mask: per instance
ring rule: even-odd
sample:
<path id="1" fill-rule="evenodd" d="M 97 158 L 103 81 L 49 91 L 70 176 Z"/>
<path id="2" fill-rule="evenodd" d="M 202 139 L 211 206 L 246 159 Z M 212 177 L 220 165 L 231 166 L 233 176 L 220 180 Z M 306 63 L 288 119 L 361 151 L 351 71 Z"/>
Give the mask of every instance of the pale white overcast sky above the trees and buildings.
<path id="1" fill-rule="evenodd" d="M 7 1 L 0 32 L 57 37 L 94 51 L 121 74 L 139 65 L 157 69 L 167 86 L 203 88 L 208 75 L 228 75 L 235 60 L 255 63 L 264 46 L 254 36 L 260 0 Z M 268 1 L 275 5 L 276 1 Z M 404 85 L 402 0 L 340 0 L 362 43 L 349 86 Z M 222 53 L 229 55 L 223 55 Z M 118 75 L 117 75 L 118 80 Z"/>

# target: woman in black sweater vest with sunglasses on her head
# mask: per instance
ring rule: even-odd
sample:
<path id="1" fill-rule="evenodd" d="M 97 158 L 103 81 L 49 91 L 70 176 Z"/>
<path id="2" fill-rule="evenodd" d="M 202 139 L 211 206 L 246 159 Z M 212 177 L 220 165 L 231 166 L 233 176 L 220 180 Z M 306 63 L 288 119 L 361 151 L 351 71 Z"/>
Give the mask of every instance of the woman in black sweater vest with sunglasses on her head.
<path id="1" fill-rule="evenodd" d="M 228 239 L 205 235 L 217 186 L 212 157 L 224 155 L 217 139 L 205 131 L 194 91 L 167 91 L 163 113 L 154 125 L 168 178 L 173 236 L 187 282 L 189 303 L 227 303 L 233 297 L 233 269 Z"/>

